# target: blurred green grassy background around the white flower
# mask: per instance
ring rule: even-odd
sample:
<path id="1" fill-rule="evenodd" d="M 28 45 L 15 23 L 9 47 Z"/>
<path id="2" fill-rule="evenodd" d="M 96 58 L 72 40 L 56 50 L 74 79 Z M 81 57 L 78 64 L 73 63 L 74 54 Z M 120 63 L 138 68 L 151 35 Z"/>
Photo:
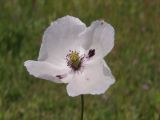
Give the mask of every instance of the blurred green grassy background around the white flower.
<path id="1" fill-rule="evenodd" d="M 160 120 L 159 0 L 0 0 L 0 120 L 79 120 L 80 97 L 23 66 L 65 15 L 87 25 L 104 19 L 116 31 L 106 61 L 117 81 L 104 95 L 85 96 L 84 120 Z"/>

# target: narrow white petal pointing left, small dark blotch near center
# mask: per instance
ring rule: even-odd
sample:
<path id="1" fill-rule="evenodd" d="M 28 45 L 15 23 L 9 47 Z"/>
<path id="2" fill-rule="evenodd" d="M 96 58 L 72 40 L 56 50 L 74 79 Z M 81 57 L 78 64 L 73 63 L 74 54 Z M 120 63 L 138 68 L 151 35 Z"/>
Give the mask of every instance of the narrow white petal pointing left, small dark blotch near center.
<path id="1" fill-rule="evenodd" d="M 41 61 L 33 61 L 28 60 L 24 63 L 24 66 L 27 68 L 29 74 L 45 79 L 51 80 L 56 83 L 67 83 L 68 80 L 68 68 L 58 67 L 52 65 L 48 62 L 41 62 Z"/>

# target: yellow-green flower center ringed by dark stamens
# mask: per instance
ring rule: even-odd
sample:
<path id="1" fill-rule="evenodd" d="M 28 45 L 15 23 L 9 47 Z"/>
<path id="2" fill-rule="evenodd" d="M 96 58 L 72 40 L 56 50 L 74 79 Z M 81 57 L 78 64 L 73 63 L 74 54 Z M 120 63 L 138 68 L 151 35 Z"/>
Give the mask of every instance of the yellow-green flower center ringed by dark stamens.
<path id="1" fill-rule="evenodd" d="M 79 70 L 84 57 L 81 57 L 77 51 L 70 51 L 66 56 L 67 65 L 73 70 Z"/>

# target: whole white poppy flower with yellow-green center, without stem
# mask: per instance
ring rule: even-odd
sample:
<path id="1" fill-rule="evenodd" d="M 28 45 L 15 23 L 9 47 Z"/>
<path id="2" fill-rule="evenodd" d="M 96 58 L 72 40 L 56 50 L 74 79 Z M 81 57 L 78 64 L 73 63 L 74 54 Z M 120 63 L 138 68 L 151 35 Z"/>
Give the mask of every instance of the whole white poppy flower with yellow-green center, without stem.
<path id="1" fill-rule="evenodd" d="M 104 61 L 114 46 L 114 28 L 103 20 L 89 27 L 65 16 L 51 23 L 43 35 L 37 61 L 24 63 L 38 78 L 67 83 L 69 96 L 102 94 L 114 82 Z"/>

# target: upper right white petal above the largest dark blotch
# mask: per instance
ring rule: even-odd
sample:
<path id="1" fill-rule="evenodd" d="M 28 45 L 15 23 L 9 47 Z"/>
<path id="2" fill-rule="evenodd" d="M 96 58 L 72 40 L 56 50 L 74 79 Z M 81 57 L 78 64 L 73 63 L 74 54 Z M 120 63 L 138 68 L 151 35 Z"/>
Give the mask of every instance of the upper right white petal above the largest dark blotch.
<path id="1" fill-rule="evenodd" d="M 95 49 L 96 54 L 104 57 L 114 46 L 114 28 L 104 21 L 95 21 L 81 33 L 81 39 L 86 50 Z"/>

